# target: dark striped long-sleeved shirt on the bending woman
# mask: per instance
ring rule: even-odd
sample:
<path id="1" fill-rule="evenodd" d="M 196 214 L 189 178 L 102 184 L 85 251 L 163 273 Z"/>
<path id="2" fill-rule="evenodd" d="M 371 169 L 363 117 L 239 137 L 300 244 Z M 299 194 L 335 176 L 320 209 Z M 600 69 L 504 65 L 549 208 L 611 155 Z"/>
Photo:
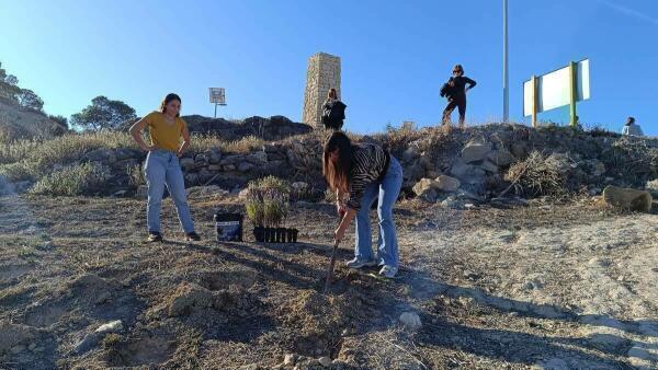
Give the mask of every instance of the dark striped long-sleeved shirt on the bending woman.
<path id="1" fill-rule="evenodd" d="M 361 209 L 361 198 L 367 185 L 381 182 L 388 170 L 390 155 L 384 148 L 373 143 L 352 146 L 352 173 L 350 183 L 350 199 L 347 206 Z"/>

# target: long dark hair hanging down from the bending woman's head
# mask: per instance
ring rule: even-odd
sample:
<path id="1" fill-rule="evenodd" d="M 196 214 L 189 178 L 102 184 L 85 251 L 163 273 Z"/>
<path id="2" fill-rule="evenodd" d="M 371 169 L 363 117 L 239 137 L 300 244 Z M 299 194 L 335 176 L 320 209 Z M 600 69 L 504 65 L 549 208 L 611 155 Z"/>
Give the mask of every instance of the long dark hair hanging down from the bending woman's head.
<path id="1" fill-rule="evenodd" d="M 338 161 L 333 163 L 330 157 L 337 150 Z M 344 193 L 349 190 L 352 181 L 352 141 L 341 131 L 331 134 L 325 142 L 322 174 L 332 190 L 336 192 L 337 188 Z"/>

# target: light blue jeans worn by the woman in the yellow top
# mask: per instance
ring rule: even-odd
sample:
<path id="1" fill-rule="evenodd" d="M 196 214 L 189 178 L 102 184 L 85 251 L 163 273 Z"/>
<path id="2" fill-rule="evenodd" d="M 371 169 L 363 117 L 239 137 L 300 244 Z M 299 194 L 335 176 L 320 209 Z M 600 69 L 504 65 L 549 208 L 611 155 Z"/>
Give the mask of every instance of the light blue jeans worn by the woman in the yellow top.
<path id="1" fill-rule="evenodd" d="M 194 231 L 190 207 L 185 199 L 185 180 L 181 164 L 174 152 L 168 150 L 154 150 L 146 157 L 146 182 L 148 184 L 148 203 L 146 206 L 146 221 L 149 232 L 160 232 L 160 208 L 164 185 L 173 199 L 179 220 L 185 233 Z"/>

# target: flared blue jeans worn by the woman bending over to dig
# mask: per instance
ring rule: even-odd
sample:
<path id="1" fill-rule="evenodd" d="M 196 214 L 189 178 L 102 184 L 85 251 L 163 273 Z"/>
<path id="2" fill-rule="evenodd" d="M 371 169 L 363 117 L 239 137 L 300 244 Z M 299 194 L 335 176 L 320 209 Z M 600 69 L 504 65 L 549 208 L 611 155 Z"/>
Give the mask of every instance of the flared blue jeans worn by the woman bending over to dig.
<path id="1" fill-rule="evenodd" d="M 361 210 L 356 212 L 356 245 L 354 256 L 361 261 L 372 261 L 372 232 L 370 223 L 370 208 L 378 198 L 377 216 L 379 218 L 379 238 L 377 240 L 378 262 L 398 267 L 398 244 L 393 222 L 393 206 L 402 187 L 402 167 L 400 163 L 390 158 L 388 171 L 381 183 L 375 182 L 365 188 L 361 198 Z"/>

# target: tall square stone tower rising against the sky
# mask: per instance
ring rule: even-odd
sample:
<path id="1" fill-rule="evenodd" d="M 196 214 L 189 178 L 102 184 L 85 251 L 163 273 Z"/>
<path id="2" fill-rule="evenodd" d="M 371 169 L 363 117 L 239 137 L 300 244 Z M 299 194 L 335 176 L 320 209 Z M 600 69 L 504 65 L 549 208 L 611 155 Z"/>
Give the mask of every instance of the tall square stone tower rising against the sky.
<path id="1" fill-rule="evenodd" d="M 340 93 L 340 58 L 318 53 L 308 58 L 306 71 L 306 91 L 304 92 L 304 112 L 302 120 L 313 127 L 322 127 L 322 103 L 327 99 L 329 89 L 336 89 L 338 99 Z"/>

